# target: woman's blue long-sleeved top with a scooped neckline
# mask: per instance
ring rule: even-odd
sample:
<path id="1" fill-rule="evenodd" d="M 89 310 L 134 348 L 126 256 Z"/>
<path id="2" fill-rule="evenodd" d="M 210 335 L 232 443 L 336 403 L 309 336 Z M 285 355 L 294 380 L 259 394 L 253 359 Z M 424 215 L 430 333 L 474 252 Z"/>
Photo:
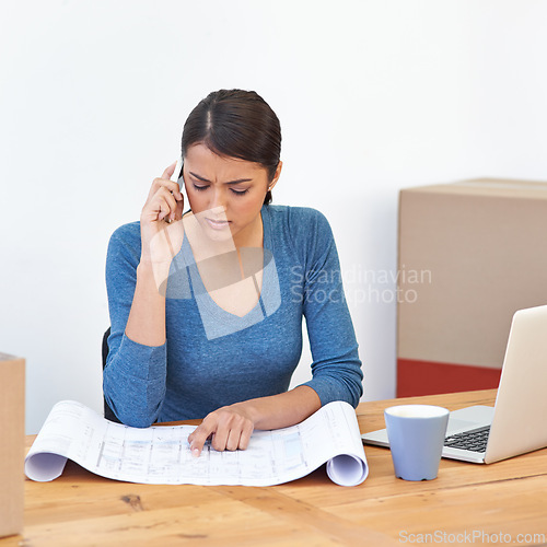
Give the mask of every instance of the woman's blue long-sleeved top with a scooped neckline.
<path id="1" fill-rule="evenodd" d="M 362 394 L 358 344 L 338 254 L 325 217 L 310 208 L 263 206 L 264 269 L 258 302 L 245 316 L 209 295 L 185 236 L 166 288 L 166 341 L 149 347 L 125 335 L 140 260 L 139 222 L 110 237 L 110 314 L 105 398 L 133 427 L 203 418 L 237 401 L 286 392 L 302 351 L 305 317 L 312 387 L 322 405 Z M 253 272 L 251 272 L 253 274 Z"/>

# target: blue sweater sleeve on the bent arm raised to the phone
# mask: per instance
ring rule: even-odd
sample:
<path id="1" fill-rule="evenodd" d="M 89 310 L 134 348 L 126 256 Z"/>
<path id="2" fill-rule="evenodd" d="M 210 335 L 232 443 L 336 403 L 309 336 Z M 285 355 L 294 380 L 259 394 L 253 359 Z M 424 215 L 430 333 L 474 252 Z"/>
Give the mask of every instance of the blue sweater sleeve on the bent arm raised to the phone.
<path id="1" fill-rule="evenodd" d="M 165 396 L 166 345 L 143 346 L 125 334 L 139 261 L 140 226 L 135 222 L 116 230 L 108 244 L 106 289 L 110 336 L 103 392 L 123 423 L 146 428 L 158 419 Z"/>

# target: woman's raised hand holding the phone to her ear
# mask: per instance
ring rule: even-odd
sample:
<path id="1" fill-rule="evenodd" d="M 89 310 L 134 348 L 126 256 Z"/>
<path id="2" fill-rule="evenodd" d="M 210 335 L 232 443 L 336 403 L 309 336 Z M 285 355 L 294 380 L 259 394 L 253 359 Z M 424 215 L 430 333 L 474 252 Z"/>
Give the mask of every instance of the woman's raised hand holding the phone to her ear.
<path id="1" fill-rule="evenodd" d="M 181 251 L 184 237 L 184 197 L 178 183 L 171 181 L 176 162 L 154 178 L 140 216 L 141 263 L 168 268 Z"/>

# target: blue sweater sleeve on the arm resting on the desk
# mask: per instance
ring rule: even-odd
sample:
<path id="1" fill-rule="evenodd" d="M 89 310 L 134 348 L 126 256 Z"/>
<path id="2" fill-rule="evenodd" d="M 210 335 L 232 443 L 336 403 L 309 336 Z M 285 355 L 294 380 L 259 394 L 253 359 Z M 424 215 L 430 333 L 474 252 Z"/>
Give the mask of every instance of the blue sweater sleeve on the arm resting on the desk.
<path id="1" fill-rule="evenodd" d="M 322 405 L 345 400 L 357 407 L 363 393 L 363 374 L 338 252 L 326 218 L 316 210 L 309 211 L 311 225 L 301 223 L 307 224 L 302 298 L 313 379 L 304 385 L 315 389 Z"/>

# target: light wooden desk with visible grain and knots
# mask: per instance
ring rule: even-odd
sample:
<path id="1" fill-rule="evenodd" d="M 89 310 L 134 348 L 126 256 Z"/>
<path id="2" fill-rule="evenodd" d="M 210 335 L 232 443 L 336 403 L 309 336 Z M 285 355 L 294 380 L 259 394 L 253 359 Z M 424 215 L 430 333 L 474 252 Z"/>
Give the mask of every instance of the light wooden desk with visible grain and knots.
<path id="1" fill-rule="evenodd" d="M 453 410 L 491 405 L 494 395 L 492 389 L 397 403 Z M 392 404 L 361 404 L 361 431 L 384 427 L 383 409 Z M 324 468 L 267 488 L 155 486 L 104 479 L 69 462 L 53 482 L 26 481 L 23 538 L 2 539 L 0 547 L 547 542 L 547 450 L 489 466 L 443 459 L 438 479 L 422 482 L 396 479 L 388 450 L 365 446 L 365 453 L 370 476 L 352 488 L 331 482 Z"/>

